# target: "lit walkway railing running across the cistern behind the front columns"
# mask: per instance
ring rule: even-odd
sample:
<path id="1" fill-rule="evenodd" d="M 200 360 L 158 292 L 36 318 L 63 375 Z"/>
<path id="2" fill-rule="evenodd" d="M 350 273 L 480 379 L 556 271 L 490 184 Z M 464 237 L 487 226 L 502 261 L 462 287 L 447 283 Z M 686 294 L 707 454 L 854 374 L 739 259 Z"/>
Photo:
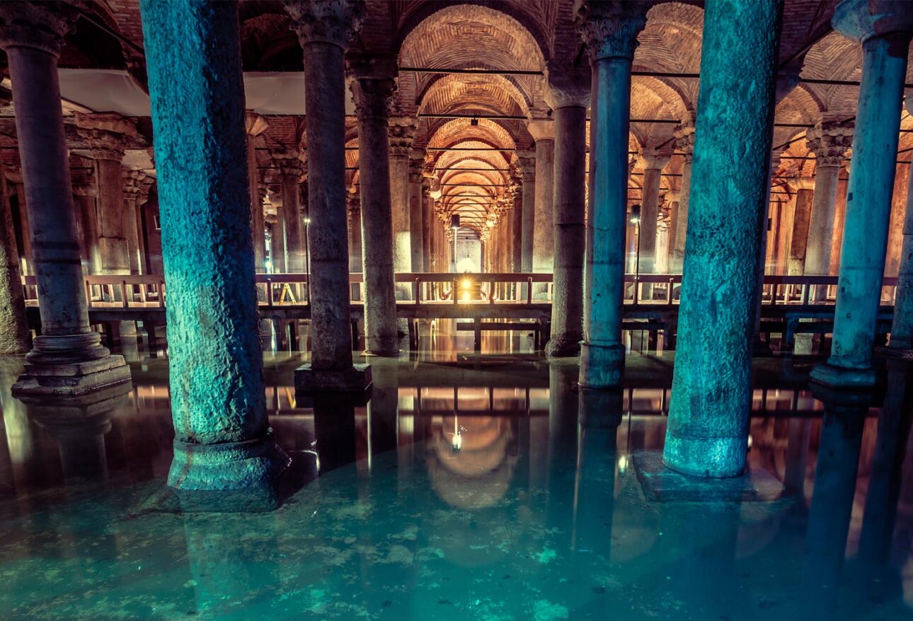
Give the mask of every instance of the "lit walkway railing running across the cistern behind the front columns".
<path id="1" fill-rule="evenodd" d="M 496 273 L 395 274 L 402 287 L 397 304 L 454 305 L 551 305 L 551 274 Z M 89 275 L 85 276 L 89 308 L 155 308 L 163 307 L 167 285 L 162 275 Z M 362 274 L 349 274 L 352 301 L 364 299 Z M 37 305 L 35 276 L 23 276 L 26 302 Z M 629 305 L 672 306 L 679 303 L 681 274 L 625 274 L 624 303 Z M 708 283 L 712 286 L 712 283 Z M 833 305 L 836 276 L 764 277 L 761 303 L 764 305 Z M 881 305 L 893 305 L 897 278 L 882 282 Z M 307 305 L 308 274 L 257 274 L 257 299 L 262 306 Z"/>

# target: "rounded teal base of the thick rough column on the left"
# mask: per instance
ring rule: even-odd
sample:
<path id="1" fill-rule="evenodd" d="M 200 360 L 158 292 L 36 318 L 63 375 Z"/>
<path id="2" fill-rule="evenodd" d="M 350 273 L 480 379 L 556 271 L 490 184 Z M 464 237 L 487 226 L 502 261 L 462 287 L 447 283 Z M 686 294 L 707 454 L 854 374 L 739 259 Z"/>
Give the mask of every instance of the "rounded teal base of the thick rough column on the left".
<path id="1" fill-rule="evenodd" d="M 278 480 L 291 459 L 267 430 L 244 442 L 174 440 L 168 486 L 185 511 L 256 511 L 278 506 Z"/>

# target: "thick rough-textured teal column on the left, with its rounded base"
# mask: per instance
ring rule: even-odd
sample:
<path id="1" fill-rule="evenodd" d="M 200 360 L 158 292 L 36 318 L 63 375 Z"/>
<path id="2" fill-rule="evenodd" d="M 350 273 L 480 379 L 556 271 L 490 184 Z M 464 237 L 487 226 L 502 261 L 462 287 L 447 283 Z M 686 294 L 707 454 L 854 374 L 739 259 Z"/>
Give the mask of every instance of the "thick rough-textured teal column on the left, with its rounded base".
<path id="1" fill-rule="evenodd" d="M 168 284 L 168 484 L 269 492 L 289 459 L 269 429 L 257 337 L 237 5 L 140 8 Z"/>

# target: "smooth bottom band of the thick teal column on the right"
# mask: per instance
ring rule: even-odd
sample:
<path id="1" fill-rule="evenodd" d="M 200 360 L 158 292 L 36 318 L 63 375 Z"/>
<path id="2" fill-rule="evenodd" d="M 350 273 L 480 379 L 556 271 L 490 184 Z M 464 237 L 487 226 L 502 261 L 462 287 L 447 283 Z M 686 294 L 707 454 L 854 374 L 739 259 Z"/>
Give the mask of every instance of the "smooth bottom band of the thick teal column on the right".
<path id="1" fill-rule="evenodd" d="M 728 479 L 745 471 L 748 438 L 677 438 L 666 433 L 666 468 L 703 479 Z"/>

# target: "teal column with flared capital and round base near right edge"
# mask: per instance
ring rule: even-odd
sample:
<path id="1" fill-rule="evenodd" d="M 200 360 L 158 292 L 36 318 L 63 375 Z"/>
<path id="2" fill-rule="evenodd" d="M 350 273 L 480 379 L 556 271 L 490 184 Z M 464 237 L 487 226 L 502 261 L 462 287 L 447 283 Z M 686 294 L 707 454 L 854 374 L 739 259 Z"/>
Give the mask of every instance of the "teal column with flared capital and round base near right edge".
<path id="1" fill-rule="evenodd" d="M 906 2 L 843 0 L 832 24 L 862 44 L 862 84 L 856 108 L 853 171 L 846 191 L 844 239 L 827 364 L 811 378 L 834 388 L 875 384 L 872 351 L 887 225 L 897 160 L 898 130 L 913 11 Z"/>

